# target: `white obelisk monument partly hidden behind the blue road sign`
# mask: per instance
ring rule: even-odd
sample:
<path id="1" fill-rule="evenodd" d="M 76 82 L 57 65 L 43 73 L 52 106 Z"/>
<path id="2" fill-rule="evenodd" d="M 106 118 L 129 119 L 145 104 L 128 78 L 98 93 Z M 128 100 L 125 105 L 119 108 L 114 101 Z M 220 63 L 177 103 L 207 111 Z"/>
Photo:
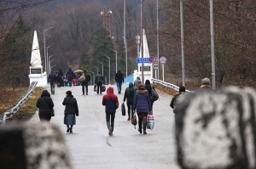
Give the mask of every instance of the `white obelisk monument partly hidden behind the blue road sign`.
<path id="1" fill-rule="evenodd" d="M 140 48 L 140 58 L 142 58 L 142 47 Z M 143 30 L 143 58 L 149 58 L 149 50 L 148 50 L 148 41 L 145 34 L 145 30 Z M 137 76 L 141 78 L 141 81 L 143 81 L 144 76 L 144 82 L 146 80 L 149 80 L 152 82 L 153 78 L 153 69 L 152 64 L 138 64 L 138 70 L 134 70 L 133 73 L 133 79 L 137 79 Z M 143 74 L 142 74 L 142 67 L 143 67 Z"/>

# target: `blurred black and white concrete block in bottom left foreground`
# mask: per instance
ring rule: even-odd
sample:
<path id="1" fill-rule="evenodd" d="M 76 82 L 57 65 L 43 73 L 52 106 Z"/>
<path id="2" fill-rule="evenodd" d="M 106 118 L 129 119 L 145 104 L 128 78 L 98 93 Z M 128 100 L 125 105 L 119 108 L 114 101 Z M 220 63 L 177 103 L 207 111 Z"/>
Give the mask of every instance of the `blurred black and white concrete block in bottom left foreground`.
<path id="1" fill-rule="evenodd" d="M 73 168 L 63 135 L 53 125 L 7 124 L 0 128 L 0 143 L 0 168 Z"/>

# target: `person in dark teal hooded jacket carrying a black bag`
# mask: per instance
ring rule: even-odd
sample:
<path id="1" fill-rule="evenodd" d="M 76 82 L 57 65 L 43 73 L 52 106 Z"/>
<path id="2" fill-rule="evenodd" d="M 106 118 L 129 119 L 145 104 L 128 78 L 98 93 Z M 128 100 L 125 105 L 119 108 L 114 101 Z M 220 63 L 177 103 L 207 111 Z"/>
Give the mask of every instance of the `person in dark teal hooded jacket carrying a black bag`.
<path id="1" fill-rule="evenodd" d="M 133 104 L 134 98 L 136 95 L 136 89 L 133 87 L 132 82 L 129 83 L 129 87 L 125 89 L 125 96 L 123 102 L 125 103 L 125 99 L 127 99 L 127 107 L 128 107 L 128 119 L 127 121 L 131 121 L 131 116 L 133 116 Z"/>

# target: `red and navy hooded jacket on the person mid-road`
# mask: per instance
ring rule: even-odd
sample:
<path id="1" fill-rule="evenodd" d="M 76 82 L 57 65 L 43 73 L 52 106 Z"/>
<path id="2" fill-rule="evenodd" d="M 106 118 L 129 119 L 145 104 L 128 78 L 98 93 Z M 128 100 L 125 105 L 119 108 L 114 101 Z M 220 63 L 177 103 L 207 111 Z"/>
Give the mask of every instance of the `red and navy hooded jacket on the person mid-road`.
<path id="1" fill-rule="evenodd" d="M 115 113 L 119 108 L 119 99 L 113 94 L 113 87 L 108 87 L 107 94 L 103 96 L 102 105 L 105 105 L 105 113 Z"/>

